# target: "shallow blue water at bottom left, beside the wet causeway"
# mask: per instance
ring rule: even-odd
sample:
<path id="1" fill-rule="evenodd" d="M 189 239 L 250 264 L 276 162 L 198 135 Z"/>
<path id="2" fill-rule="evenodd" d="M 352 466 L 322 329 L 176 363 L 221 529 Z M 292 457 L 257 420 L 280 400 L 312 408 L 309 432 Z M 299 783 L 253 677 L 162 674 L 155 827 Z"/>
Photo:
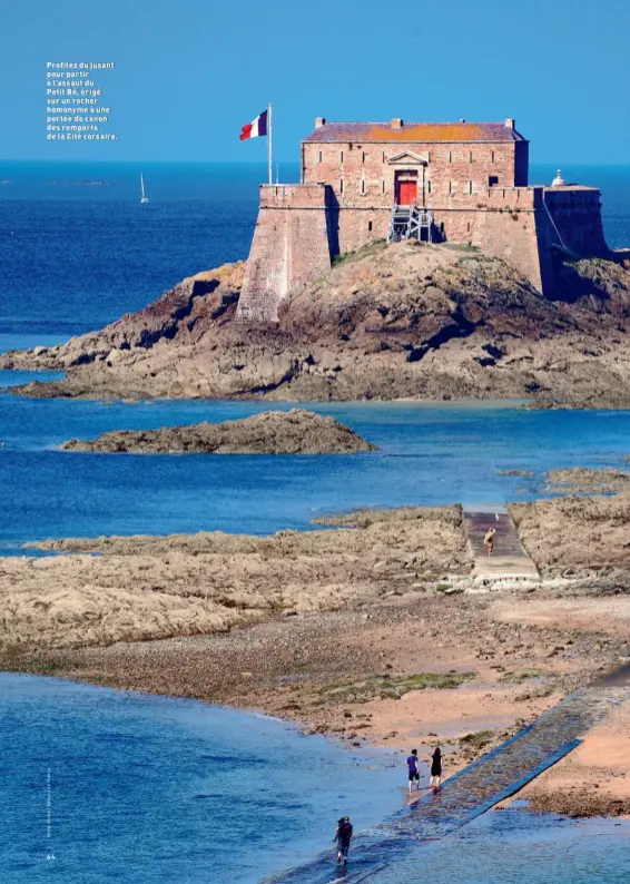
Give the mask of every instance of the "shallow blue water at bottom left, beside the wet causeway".
<path id="1" fill-rule="evenodd" d="M 384 753 L 55 678 L 0 675 L 0 744 L 2 884 L 253 884 L 404 800 Z"/>

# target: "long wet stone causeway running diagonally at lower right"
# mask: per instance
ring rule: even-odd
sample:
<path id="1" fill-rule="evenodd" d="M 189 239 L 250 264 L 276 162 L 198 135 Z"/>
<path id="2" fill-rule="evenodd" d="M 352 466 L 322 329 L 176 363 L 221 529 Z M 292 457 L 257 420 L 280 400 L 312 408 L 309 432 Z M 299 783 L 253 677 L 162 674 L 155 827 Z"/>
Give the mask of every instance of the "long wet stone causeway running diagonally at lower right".
<path id="1" fill-rule="evenodd" d="M 630 665 L 571 694 L 511 739 L 447 779 L 390 819 L 357 834 L 347 872 L 332 851 L 264 878 L 266 884 L 358 884 L 403 858 L 419 843 L 447 835 L 513 795 L 580 744 L 580 737 L 621 703 L 630 700 Z M 348 808 L 348 813 L 352 808 Z"/>

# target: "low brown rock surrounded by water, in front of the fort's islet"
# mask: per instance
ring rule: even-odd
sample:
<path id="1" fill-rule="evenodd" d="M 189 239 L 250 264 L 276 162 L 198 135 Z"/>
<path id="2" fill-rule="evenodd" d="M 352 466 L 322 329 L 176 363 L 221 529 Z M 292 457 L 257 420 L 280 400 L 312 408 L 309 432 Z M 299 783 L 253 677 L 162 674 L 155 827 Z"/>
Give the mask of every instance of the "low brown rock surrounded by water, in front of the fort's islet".
<path id="1" fill-rule="evenodd" d="M 118 430 L 93 441 L 71 439 L 62 448 L 109 454 L 347 454 L 376 450 L 333 418 L 302 409 L 267 411 L 224 423 Z"/>

